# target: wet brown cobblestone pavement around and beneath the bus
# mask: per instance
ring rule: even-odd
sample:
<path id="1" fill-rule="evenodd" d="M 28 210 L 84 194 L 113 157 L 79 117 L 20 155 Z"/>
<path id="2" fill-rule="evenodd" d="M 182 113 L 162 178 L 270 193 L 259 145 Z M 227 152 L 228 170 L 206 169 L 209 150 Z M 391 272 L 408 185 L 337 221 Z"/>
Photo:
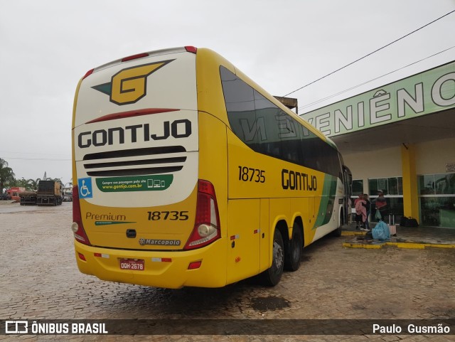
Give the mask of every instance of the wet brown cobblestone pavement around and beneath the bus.
<path id="1" fill-rule="evenodd" d="M 0 205 L 0 319 L 455 319 L 455 250 L 324 237 L 276 287 L 156 289 L 77 270 L 71 203 Z M 1 336 L 7 341 L 455 341 L 451 336 Z"/>

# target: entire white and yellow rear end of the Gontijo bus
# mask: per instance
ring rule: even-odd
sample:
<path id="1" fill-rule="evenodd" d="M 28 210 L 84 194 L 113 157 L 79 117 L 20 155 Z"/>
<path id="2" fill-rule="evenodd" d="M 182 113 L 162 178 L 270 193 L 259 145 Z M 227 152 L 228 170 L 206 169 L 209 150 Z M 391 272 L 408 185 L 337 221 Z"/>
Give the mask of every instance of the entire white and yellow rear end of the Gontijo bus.
<path id="1" fill-rule="evenodd" d="M 226 284 L 213 184 L 199 179 L 196 49 L 90 70 L 73 109 L 77 266 L 100 279 Z"/>

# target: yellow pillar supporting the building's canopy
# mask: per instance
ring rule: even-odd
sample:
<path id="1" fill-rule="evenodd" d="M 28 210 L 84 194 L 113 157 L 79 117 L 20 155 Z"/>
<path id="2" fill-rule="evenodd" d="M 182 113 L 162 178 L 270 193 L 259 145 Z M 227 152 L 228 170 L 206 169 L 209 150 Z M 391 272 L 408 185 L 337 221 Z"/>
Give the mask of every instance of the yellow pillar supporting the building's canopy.
<path id="1" fill-rule="evenodd" d="M 415 146 L 402 144 L 403 208 L 405 216 L 419 220 L 419 196 L 415 171 Z"/>

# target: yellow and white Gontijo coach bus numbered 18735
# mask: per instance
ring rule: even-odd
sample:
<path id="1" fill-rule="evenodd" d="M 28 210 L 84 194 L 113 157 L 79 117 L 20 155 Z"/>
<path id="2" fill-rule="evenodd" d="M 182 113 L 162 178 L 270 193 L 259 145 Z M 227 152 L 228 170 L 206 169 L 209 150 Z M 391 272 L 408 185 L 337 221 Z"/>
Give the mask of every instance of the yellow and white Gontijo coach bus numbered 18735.
<path id="1" fill-rule="evenodd" d="M 336 146 L 206 48 L 90 70 L 73 109 L 80 272 L 153 287 L 277 284 L 340 233 L 350 174 Z"/>

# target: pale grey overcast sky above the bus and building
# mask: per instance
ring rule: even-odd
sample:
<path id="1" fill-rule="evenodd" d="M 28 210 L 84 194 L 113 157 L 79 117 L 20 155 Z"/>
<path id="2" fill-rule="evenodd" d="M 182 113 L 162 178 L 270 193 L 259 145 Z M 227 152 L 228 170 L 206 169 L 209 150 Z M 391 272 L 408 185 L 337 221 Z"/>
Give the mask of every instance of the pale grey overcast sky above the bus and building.
<path id="1" fill-rule="evenodd" d="M 455 0 L 4 0 L 0 158 L 16 178 L 69 182 L 75 87 L 117 58 L 210 48 L 283 96 L 454 10 Z M 454 32 L 455 13 L 289 97 L 301 114 L 451 62 Z"/>

